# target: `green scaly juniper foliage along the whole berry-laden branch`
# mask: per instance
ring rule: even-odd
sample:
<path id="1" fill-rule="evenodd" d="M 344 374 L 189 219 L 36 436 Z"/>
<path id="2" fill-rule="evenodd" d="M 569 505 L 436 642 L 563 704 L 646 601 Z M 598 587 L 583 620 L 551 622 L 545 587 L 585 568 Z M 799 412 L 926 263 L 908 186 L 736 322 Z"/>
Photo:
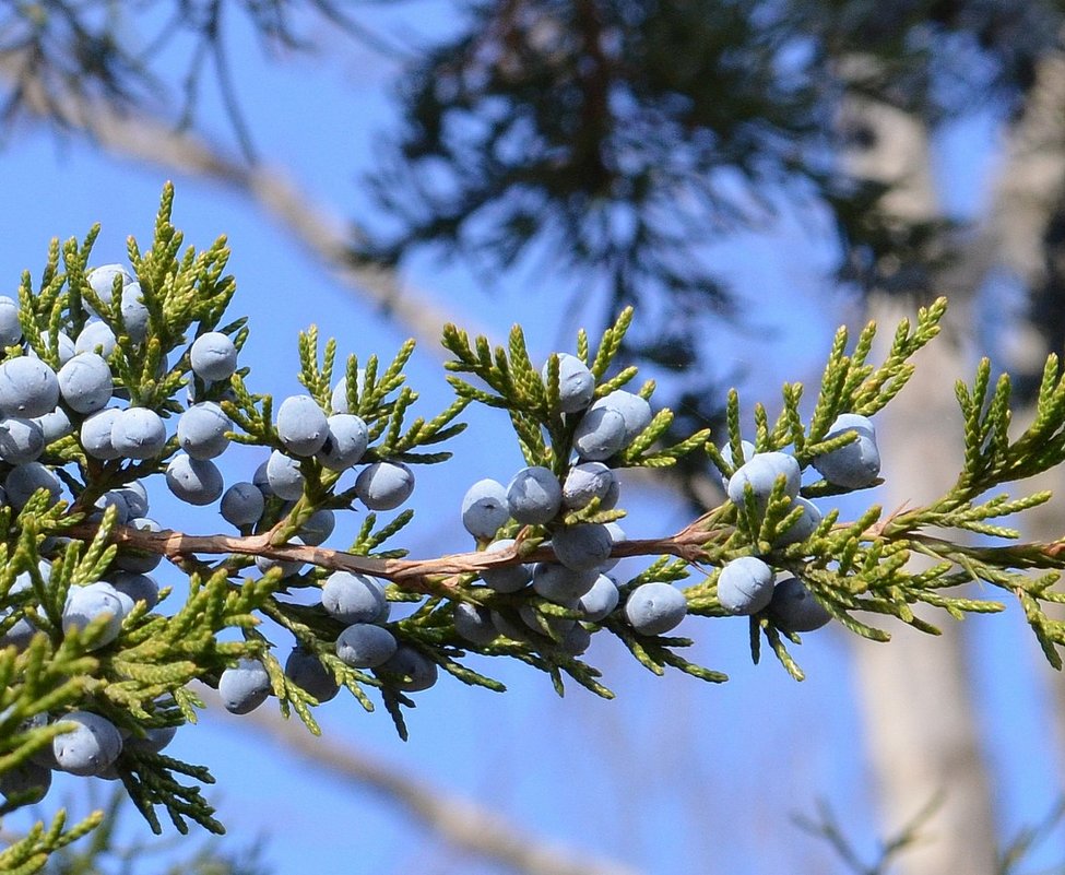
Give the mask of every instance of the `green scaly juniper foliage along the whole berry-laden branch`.
<path id="1" fill-rule="evenodd" d="M 935 632 L 930 620 L 916 613 L 920 605 L 951 617 L 1002 610 L 1001 603 L 971 598 L 962 589 L 974 581 L 990 584 L 1018 600 L 1048 660 L 1061 667 L 1065 623 L 1050 617 L 1046 607 L 1065 601 L 1054 587 L 1065 568 L 1065 540 L 1018 543 L 1011 521 L 1048 501 L 1050 495 L 991 494 L 1065 461 L 1065 376 L 1055 357 L 1048 360 L 1032 424 L 1016 438 L 1008 430 L 1008 377 L 992 380 L 991 363 L 981 363 L 973 382 L 957 388 L 966 449 L 954 486 L 926 506 L 885 515 L 873 505 L 852 520 L 831 507 L 833 496 L 852 487 L 809 472 L 823 468 L 832 453 L 853 450 L 863 439 L 854 429 L 836 427 L 842 414 L 871 417 L 903 389 L 913 374 L 911 356 L 938 332 L 945 300 L 922 308 L 913 324 L 903 321 L 878 364 L 869 360 L 874 324 L 859 332 L 853 344 L 841 329 L 808 413 L 800 383 L 783 386 L 776 418 L 765 405 L 756 404 L 748 419 L 733 391 L 726 402 L 724 434 L 711 440 L 708 429 L 698 429 L 663 446 L 673 414 L 649 412 L 624 446 L 603 460 L 605 468 L 661 469 L 687 457 L 702 459 L 712 475 L 739 477 L 739 483 L 743 460 L 749 456 L 744 438 L 749 435 L 749 451 L 756 457 L 782 454 L 806 474 L 797 494 L 784 474 L 764 493 L 748 481 L 741 492 L 730 493 L 732 498 L 672 535 L 626 540 L 614 529 L 611 558 L 647 557 L 648 561 L 627 579 L 615 581 L 620 606 L 593 618 L 577 600 L 548 598 L 535 587 L 497 591 L 485 580 L 493 571 L 519 565 L 557 564 L 560 556 L 554 545 L 559 539 L 581 527 L 599 530 L 624 520 L 624 508 L 613 500 L 596 496 L 583 506 L 558 507 L 549 518 L 526 523 L 514 519 L 517 511 L 508 504 L 511 516 L 500 520 L 490 536 L 475 535 L 471 548 L 410 558 L 401 537 L 413 511 L 394 505 L 374 507 L 358 478 L 355 486 L 342 488 L 342 472 L 326 465 L 320 453 L 294 453 L 279 429 L 281 405 L 275 406 L 269 393 L 253 390 L 247 367 L 214 382 L 194 373 L 191 344 L 197 338 L 220 332 L 239 348 L 249 327 L 244 319 L 224 323 L 235 289 L 233 277 L 224 274 L 228 255 L 224 239 L 202 252 L 189 247 L 182 253 L 182 237 L 170 223 L 171 209 L 173 189 L 167 187 L 152 246 L 143 252 L 133 241 L 129 246 L 149 312 L 150 336 L 137 342 L 129 334 L 120 306 L 129 286 L 123 287 L 121 277 L 110 289 L 110 303 L 94 288 L 90 269 L 98 230 L 94 228 L 82 243 L 54 243 L 37 285 L 28 273 L 23 276 L 19 324 L 25 340 L 5 351 L 4 362 L 34 354 L 60 367 L 63 335 L 78 332 L 90 318 L 98 319 L 118 339 L 107 360 L 115 395 L 125 397 L 127 406 L 147 407 L 170 422 L 190 404 L 217 402 L 230 417 L 230 440 L 295 458 L 303 485 L 298 497 L 265 495 L 259 519 L 240 523 L 236 534 L 192 534 L 179 527 L 151 531 L 123 522 L 117 504 L 105 499 L 135 481 L 164 476 L 182 452 L 176 437 L 156 454 L 137 460 L 94 456 L 76 427 L 48 442 L 39 464 L 60 477 L 59 499 L 42 488 L 21 506 L 0 506 L 0 640 L 5 645 L 0 649 L 4 682 L 0 685 L 0 789 L 8 788 L 5 811 L 39 797 L 15 789 L 14 779 L 71 730 L 66 716 L 90 711 L 129 737 L 143 740 L 155 731 L 196 721 L 204 702 L 193 682 L 217 687 L 226 672 L 246 664 L 261 666 L 267 678 L 263 695 L 274 697 L 285 716 L 295 712 L 311 732 L 319 731 L 313 709 L 330 697 L 332 685 L 347 690 L 367 711 L 379 698 L 403 737 L 407 733 L 404 710 L 439 674 L 504 690 L 482 671 L 482 658 L 528 664 L 543 672 L 559 694 L 571 682 L 597 696 L 613 697 L 601 672 L 584 657 L 588 639 L 601 631 L 616 638 L 655 674 L 675 669 L 721 683 L 725 675 L 683 655 L 693 638 L 641 627 L 627 607 L 646 588 L 658 586 L 681 593 L 684 610 L 694 617 L 726 618 L 733 608 L 721 598 L 723 569 L 748 557 L 767 564 L 778 576 L 801 581 L 826 620 L 835 619 L 878 641 L 889 638 L 888 618 Z M 636 369 L 618 362 L 632 320 L 632 310 L 623 310 L 594 350 L 588 334 L 578 333 L 573 355 L 591 381 L 588 403 L 606 403 L 615 393 L 636 404 L 653 399 L 652 381 L 630 391 L 637 386 Z M 561 482 L 581 463 L 576 440 L 584 409 L 564 411 L 560 353 L 534 364 L 518 326 L 507 344 L 497 346 L 487 338 L 471 340 L 448 326 L 443 345 L 451 355 L 448 382 L 455 400 L 438 413 L 416 415 L 419 392 L 407 385 L 404 374 L 413 343 L 403 344 L 387 365 L 368 356 L 360 367 L 360 359 L 350 355 L 344 359 L 341 389 L 339 343 L 327 340 L 322 345 L 315 327 L 300 334 L 299 380 L 323 417 L 346 411 L 366 426 L 367 447 L 358 462 L 363 472 L 375 465 L 401 469 L 445 461 L 450 454 L 440 446 L 464 428 L 459 417 L 471 403 L 505 413 L 528 466 L 547 469 Z M 75 426 L 80 422 L 75 416 Z M 17 464 L 0 459 L 0 475 L 10 476 Z M 884 474 L 889 477 L 891 472 Z M 874 475 L 864 485 L 876 482 Z M 823 509 L 819 521 L 794 537 L 808 512 L 800 498 L 821 501 Z M 346 539 L 346 549 L 311 543 L 310 533 L 322 515 L 351 512 L 360 505 L 368 512 L 354 536 Z M 985 541 L 968 543 L 963 535 L 971 533 Z M 489 551 L 494 539 L 512 539 L 512 543 Z M 161 591 L 157 605 L 138 601 L 125 612 L 117 635 L 109 630 L 108 615 L 82 628 L 67 622 L 70 593 L 110 579 L 125 557 L 153 555 L 182 572 L 182 583 Z M 915 565 L 910 561 L 915 555 L 930 561 Z M 368 624 L 386 630 L 394 641 L 394 661 L 360 665 L 342 659 L 338 641 L 350 624 L 320 601 L 322 588 L 335 572 L 376 578 L 382 581 L 388 605 L 407 606 L 402 616 L 382 615 Z M 694 580 L 686 583 L 689 578 Z M 307 604 L 306 598 L 294 598 L 308 593 L 317 594 L 318 601 Z M 457 616 L 460 608 L 490 624 L 492 634 L 477 640 L 464 636 Z M 765 641 L 784 669 L 802 678 L 789 650 L 801 641 L 800 634 L 779 607 L 769 601 L 753 608 L 747 623 L 755 661 Z M 32 627 L 28 640 L 13 638 L 20 624 Z M 286 670 L 279 658 L 281 641 L 317 659 L 324 677 L 317 693 Z M 204 767 L 137 745 L 113 767 L 114 777 L 122 781 L 154 829 L 162 828 L 157 815 L 162 808 L 181 831 L 190 821 L 221 830 L 202 795 L 200 784 L 212 780 Z M 188 779 L 191 785 L 184 783 Z M 79 830 L 92 828 L 95 820 L 72 830 L 58 823 L 48 829 L 38 825 L 27 836 L 28 843 L 17 846 L 21 850 L 12 846 L 5 852 L 14 854 L 10 856 L 13 871 L 37 871 L 33 866 L 39 868 L 40 861 L 66 841 L 63 837 L 81 835 Z"/>

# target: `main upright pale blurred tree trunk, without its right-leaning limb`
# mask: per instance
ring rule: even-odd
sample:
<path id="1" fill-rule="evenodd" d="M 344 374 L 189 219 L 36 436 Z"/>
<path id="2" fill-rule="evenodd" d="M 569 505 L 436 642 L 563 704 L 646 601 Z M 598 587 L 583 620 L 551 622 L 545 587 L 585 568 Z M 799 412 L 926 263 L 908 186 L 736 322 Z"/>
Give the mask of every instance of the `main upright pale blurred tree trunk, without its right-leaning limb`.
<path id="1" fill-rule="evenodd" d="M 844 125 L 861 125 L 861 147 L 850 150 L 849 169 L 859 178 L 891 182 L 885 210 L 900 222 L 939 215 L 933 189 L 927 130 L 916 118 L 883 104 L 854 99 Z M 962 458 L 961 427 L 952 385 L 970 367 L 970 296 L 955 294 L 944 334 L 915 359 L 918 378 L 878 417 L 885 486 L 890 512 L 906 501 L 932 499 L 952 482 Z M 890 328 L 912 309 L 908 296 L 876 292 L 868 316 Z M 934 379 L 922 378 L 933 375 Z M 950 618 L 926 618 L 944 634 L 931 637 L 895 626 L 881 646 L 854 638 L 859 705 L 883 813 L 881 829 L 897 835 L 930 803 L 936 806 L 919 830 L 924 841 L 899 858 L 904 875 L 993 875 L 995 824 L 962 627 Z"/>

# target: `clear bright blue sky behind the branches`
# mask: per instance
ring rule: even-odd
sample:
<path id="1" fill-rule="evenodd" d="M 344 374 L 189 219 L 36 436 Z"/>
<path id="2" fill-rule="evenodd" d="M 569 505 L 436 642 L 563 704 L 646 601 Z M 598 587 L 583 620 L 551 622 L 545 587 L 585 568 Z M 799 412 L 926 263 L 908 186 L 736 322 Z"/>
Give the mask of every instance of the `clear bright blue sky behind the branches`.
<path id="1" fill-rule="evenodd" d="M 440 3 L 417 3 L 423 32 L 440 23 Z M 239 34 L 239 28 L 237 31 Z M 260 152 L 283 166 L 312 198 L 341 216 L 369 209 L 359 185 L 375 142 L 391 121 L 387 91 L 393 68 L 380 55 L 329 37 L 316 57 L 263 60 L 247 34 L 232 49 L 238 88 Z M 205 127 L 226 134 L 216 100 L 205 100 Z M 939 155 L 948 202 L 973 209 L 991 155 L 991 133 L 974 123 L 945 138 Z M 81 237 L 103 224 L 97 263 L 125 258 L 126 235 L 150 237 L 158 193 L 170 172 L 103 155 L 91 144 L 23 125 L 0 153 L 0 280 L 13 292 L 23 269 L 39 273 L 52 236 Z M 341 351 L 390 355 L 407 332 L 340 287 L 271 218 L 216 185 L 173 176 L 176 224 L 187 240 L 208 246 L 225 233 L 238 292 L 232 316 L 250 317 L 242 364 L 252 386 L 284 395 L 296 381 L 296 331 L 315 322 Z M 816 217 L 814 217 L 816 218 Z M 783 379 L 816 379 L 836 321 L 845 315 L 824 272 L 828 244 L 810 216 L 785 216 L 772 233 L 720 246 L 723 272 L 738 291 L 765 293 L 749 316 L 760 329 L 738 340 L 722 327 L 723 373 L 750 373 L 745 399 L 773 401 Z M 781 258 L 781 253 L 786 253 Z M 431 293 L 460 323 L 471 320 L 497 336 L 522 322 L 535 355 L 572 338 L 580 317 L 558 296 L 539 294 L 530 276 L 500 276 L 486 295 L 461 265 L 415 259 L 413 286 Z M 542 281 L 549 286 L 551 277 Z M 828 301 L 826 304 L 826 301 Z M 584 314 L 587 317 L 587 314 Z M 419 411 L 435 412 L 448 390 L 435 351 L 419 352 L 410 379 L 423 393 Z M 768 395 L 768 397 L 767 397 Z M 483 476 L 506 481 L 520 464 L 502 417 L 471 413 L 470 433 L 454 441 L 453 463 L 419 472 L 413 505 L 419 516 L 406 543 L 417 556 L 465 548 L 459 523 L 465 487 Z M 227 482 L 248 478 L 258 459 L 234 453 Z M 667 534 L 685 522 L 677 501 L 646 481 L 623 487 L 630 533 Z M 154 515 L 164 525 L 220 531 L 213 508 L 190 509 L 153 484 Z M 359 520 L 346 522 L 338 541 Z M 344 523 L 342 523 L 342 527 Z M 339 528 L 342 528 L 339 527 Z M 163 582 L 174 572 L 163 572 Z M 974 634 L 981 720 L 996 766 L 1003 819 L 1015 829 L 1040 819 L 1058 791 L 1046 731 L 1049 671 L 1022 623 L 1009 616 L 967 620 Z M 417 696 L 409 716 L 411 741 L 400 742 L 378 709 L 366 714 L 339 698 L 320 710 L 330 742 L 348 744 L 448 792 L 476 799 L 552 841 L 628 862 L 649 873 L 842 872 L 821 843 L 792 823 L 828 800 L 860 848 L 877 833 L 872 775 L 862 754 L 853 705 L 850 643 L 838 629 L 807 636 L 797 651 L 807 673 L 792 682 L 771 659 L 752 666 L 746 623 L 688 619 L 697 661 L 729 673 L 709 686 L 681 675 L 654 677 L 613 641 L 596 641 L 591 661 L 618 694 L 604 702 L 573 686 L 564 699 L 534 671 L 498 661 L 475 663 L 510 691 L 470 689 L 450 678 Z M 287 642 L 279 641 L 282 652 Z M 1055 678 L 1056 681 L 1056 678 Z M 264 707 L 270 707 L 264 706 Z M 1003 743 L 1008 742 L 1008 743 Z M 387 800 L 309 768 L 239 718 L 210 713 L 178 734 L 176 756 L 209 765 L 218 779 L 209 791 L 227 825 L 227 847 L 262 841 L 279 873 L 320 875 L 381 872 L 501 871 L 455 858 L 411 826 Z M 84 807 L 86 780 L 54 791 Z M 105 788 L 106 789 L 106 788 Z M 100 792 L 100 788 L 96 788 Z M 130 818 L 132 820 L 132 817 Z M 142 833 L 130 827 L 131 835 Z M 1040 861 L 1060 860 L 1061 842 Z M 700 861 L 693 868 L 691 861 Z"/>

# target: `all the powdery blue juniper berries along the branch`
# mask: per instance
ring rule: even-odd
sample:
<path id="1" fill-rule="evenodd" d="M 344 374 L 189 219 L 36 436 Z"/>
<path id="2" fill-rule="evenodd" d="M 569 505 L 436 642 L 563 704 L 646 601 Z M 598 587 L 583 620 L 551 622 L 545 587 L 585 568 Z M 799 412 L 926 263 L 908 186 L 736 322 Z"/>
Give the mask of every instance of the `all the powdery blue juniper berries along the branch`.
<path id="1" fill-rule="evenodd" d="M 226 489 L 214 461 L 228 447 L 234 430 L 223 404 L 190 398 L 177 419 L 176 435 L 170 437 L 158 412 L 129 403 L 129 393 L 113 373 L 119 343 L 114 326 L 123 332 L 122 343 L 127 339 L 132 344 L 143 343 L 149 336 L 147 307 L 139 284 L 121 265 L 97 268 L 86 279 L 113 317 L 111 300 L 115 295 L 120 296 L 121 318 L 108 320 L 91 312 L 92 318 L 76 338 L 49 333 L 46 342 L 55 344 L 58 352 L 57 370 L 25 344 L 19 304 L 0 297 L 0 345 L 5 350 L 0 362 L 0 502 L 19 510 L 40 489 L 46 490 L 52 504 L 58 501 L 64 484 L 56 469 L 62 466 L 64 457 L 50 453 L 50 448 L 57 441 L 72 440 L 85 457 L 97 462 L 142 462 L 169 457 L 165 480 L 175 496 L 200 506 L 220 501 L 223 518 L 247 532 L 262 521 L 271 496 L 284 502 L 303 497 L 305 460 L 315 459 L 323 468 L 341 472 L 364 459 L 370 429 L 350 410 L 345 379 L 332 392 L 328 409 L 309 394 L 284 399 L 275 416 L 281 448 L 271 452 L 250 481 Z M 523 468 L 507 485 L 495 480 L 474 483 L 462 500 L 461 516 L 464 528 L 488 553 L 514 545 L 513 539 L 500 537 L 502 530 L 514 533 L 518 527 L 542 527 L 537 535 L 549 539 L 545 544 L 553 551 L 552 561 L 486 568 L 480 575 L 481 583 L 496 593 L 534 594 L 566 608 L 568 616 L 542 612 L 532 600 L 521 602 L 518 610 L 487 610 L 474 600 L 454 604 L 453 624 L 459 637 L 477 646 L 487 646 L 499 636 L 522 640 L 529 639 L 532 631 L 546 630 L 564 651 L 579 655 L 588 648 L 596 624 L 608 617 L 616 616 L 640 635 L 662 635 L 684 618 L 687 600 L 666 582 L 618 587 L 608 574 L 617 561 L 612 555 L 614 546 L 625 539 L 616 522 L 566 522 L 575 512 L 587 510 L 584 519 L 595 519 L 600 511 L 616 507 L 618 457 L 651 425 L 652 413 L 644 398 L 622 389 L 596 398 L 594 376 L 581 359 L 568 354 L 555 359 L 557 412 L 570 428 L 571 458 L 558 470 Z M 224 385 L 236 373 L 237 347 L 225 333 L 208 331 L 190 345 L 188 363 L 198 387 Z M 166 370 L 165 363 L 161 367 Z M 362 373 L 358 378 L 362 381 Z M 545 365 L 545 385 L 549 378 L 551 367 Z M 217 397 L 217 392 L 213 394 Z M 861 488 L 873 483 L 879 471 L 875 434 L 865 417 L 844 414 L 832 425 L 828 437 L 848 433 L 854 433 L 855 439 L 816 458 L 813 465 L 839 487 Z M 772 496 L 782 494 L 801 510 L 790 528 L 779 534 L 774 546 L 813 534 L 821 515 L 800 495 L 802 472 L 794 457 L 783 452 L 756 453 L 747 442 L 743 444 L 743 451 L 742 463 L 723 484 L 731 500 L 742 509 L 753 501 L 753 510 L 764 515 Z M 730 470 L 734 468 L 727 448 L 722 454 Z M 391 510 L 406 501 L 413 488 L 414 476 L 407 465 L 378 460 L 358 473 L 354 492 L 370 510 Z M 114 508 L 120 524 L 159 530 L 158 523 L 147 516 L 147 495 L 139 481 L 104 493 L 92 507 L 79 504 L 81 495 L 74 494 L 72 499 L 75 508 L 97 519 Z M 301 525 L 293 543 L 321 544 L 332 533 L 334 522 L 331 510 L 319 510 Z M 47 547 L 43 553 L 51 555 Z M 149 572 L 158 561 L 157 555 L 120 549 L 103 579 L 70 588 L 62 611 L 63 632 L 81 632 L 92 625 L 88 647 L 107 647 L 119 636 L 131 612 L 155 607 L 159 588 Z M 300 571 L 298 563 L 260 558 L 257 564 L 263 572 L 281 565 L 282 577 Z M 0 622 L 4 622 L 0 647 L 22 650 L 28 646 L 37 630 L 37 615 L 27 601 L 29 591 L 34 584 L 47 586 L 50 574 L 46 558 L 15 577 L 8 590 L 10 605 L 0 613 Z M 718 600 L 732 614 L 768 610 L 776 625 L 788 631 L 810 630 L 829 619 L 797 577 L 779 577 L 761 557 L 741 556 L 721 569 Z M 394 624 L 389 625 L 390 604 L 382 581 L 335 571 L 322 581 L 320 608 L 343 625 L 335 639 L 335 655 L 346 665 L 383 673 L 389 684 L 404 691 L 425 689 L 436 682 L 437 664 L 403 642 Z M 11 623 L 13 611 L 20 616 Z M 298 645 L 289 653 L 284 671 L 318 701 L 329 700 L 339 691 L 333 672 L 319 654 Z M 218 678 L 221 698 L 234 713 L 257 708 L 272 687 L 264 664 L 255 659 L 240 660 Z M 44 795 L 54 769 L 117 777 L 115 762 L 123 745 L 157 753 L 174 735 L 174 729 L 167 728 L 142 730 L 133 737 L 106 717 L 88 711 L 63 713 L 58 719 L 73 723 L 74 730 L 57 735 L 51 747 L 33 761 L 0 777 L 0 792 L 11 795 L 39 790 Z M 42 716 L 40 720 L 47 717 Z"/>

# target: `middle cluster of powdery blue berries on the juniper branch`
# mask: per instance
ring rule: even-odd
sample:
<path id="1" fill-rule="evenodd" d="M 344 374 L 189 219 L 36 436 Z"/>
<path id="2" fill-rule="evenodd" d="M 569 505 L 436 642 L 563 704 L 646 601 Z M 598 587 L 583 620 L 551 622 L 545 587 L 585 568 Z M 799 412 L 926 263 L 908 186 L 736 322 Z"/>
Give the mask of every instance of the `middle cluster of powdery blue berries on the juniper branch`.
<path id="1" fill-rule="evenodd" d="M 636 587 L 619 607 L 622 593 L 607 572 L 617 560 L 611 554 L 625 533 L 616 522 L 565 524 L 563 518 L 588 508 L 616 507 L 619 488 L 608 464 L 651 423 L 651 406 L 638 394 L 617 389 L 595 399 L 595 380 L 578 357 L 558 354 L 561 413 L 576 417 L 575 458 L 556 475 L 548 468 L 533 465 L 518 471 L 505 486 L 486 478 L 474 483 L 462 499 L 462 524 L 489 553 L 507 549 L 513 539 L 496 539 L 511 521 L 520 525 L 544 525 L 546 543 L 555 561 L 488 568 L 481 580 L 500 593 L 529 590 L 553 604 L 576 611 L 583 623 L 596 624 L 616 610 L 642 635 L 662 635 L 677 626 L 687 612 L 683 593 L 668 583 Z M 544 367 L 544 380 L 547 367 Z M 518 611 L 521 625 L 500 611 L 472 602 L 454 606 L 454 628 L 465 640 L 484 646 L 504 635 L 514 640 L 542 631 L 546 622 L 567 652 L 579 655 L 590 642 L 587 625 L 573 618 L 545 617 L 531 603 Z"/>

